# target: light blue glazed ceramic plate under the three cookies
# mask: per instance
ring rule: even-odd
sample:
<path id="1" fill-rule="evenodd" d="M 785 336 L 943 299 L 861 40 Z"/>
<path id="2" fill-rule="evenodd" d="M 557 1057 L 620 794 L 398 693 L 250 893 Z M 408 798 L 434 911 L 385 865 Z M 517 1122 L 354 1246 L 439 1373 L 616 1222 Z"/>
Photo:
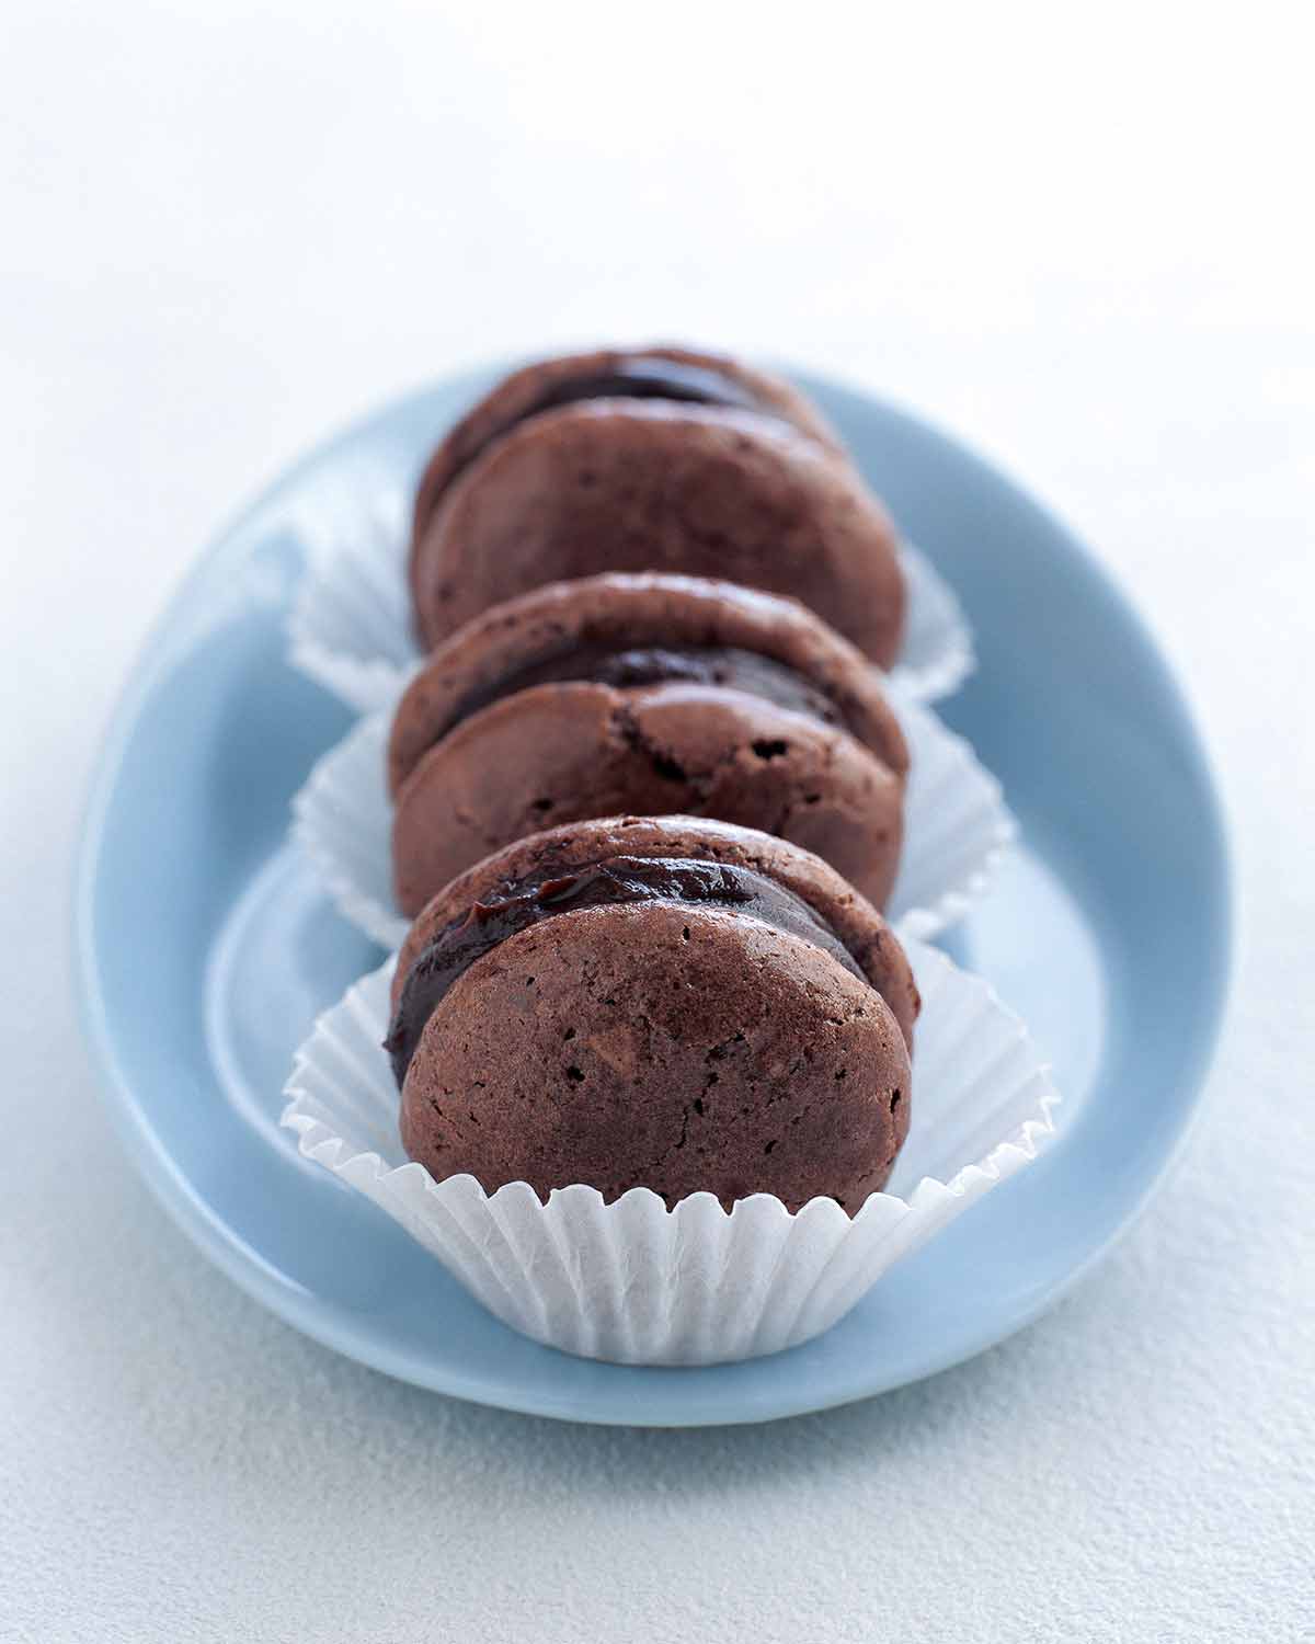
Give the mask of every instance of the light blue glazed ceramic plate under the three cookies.
<path id="1" fill-rule="evenodd" d="M 945 709 L 1022 845 L 955 934 L 1065 1093 L 1042 1161 L 807 1346 L 630 1369 L 485 1314 L 278 1128 L 293 1049 L 378 950 L 286 847 L 288 802 L 347 728 L 284 663 L 296 521 L 408 478 L 483 378 L 390 408 L 298 467 L 192 572 L 108 735 L 79 866 L 89 1036 L 128 1148 L 179 1225 L 289 1323 L 378 1369 L 516 1411 L 694 1425 L 914 1381 L 1036 1318 L 1128 1225 L 1197 1105 L 1230 968 L 1220 807 L 1174 681 L 1087 551 L 1008 480 L 881 401 L 802 376 L 958 590 L 980 671 Z"/>

